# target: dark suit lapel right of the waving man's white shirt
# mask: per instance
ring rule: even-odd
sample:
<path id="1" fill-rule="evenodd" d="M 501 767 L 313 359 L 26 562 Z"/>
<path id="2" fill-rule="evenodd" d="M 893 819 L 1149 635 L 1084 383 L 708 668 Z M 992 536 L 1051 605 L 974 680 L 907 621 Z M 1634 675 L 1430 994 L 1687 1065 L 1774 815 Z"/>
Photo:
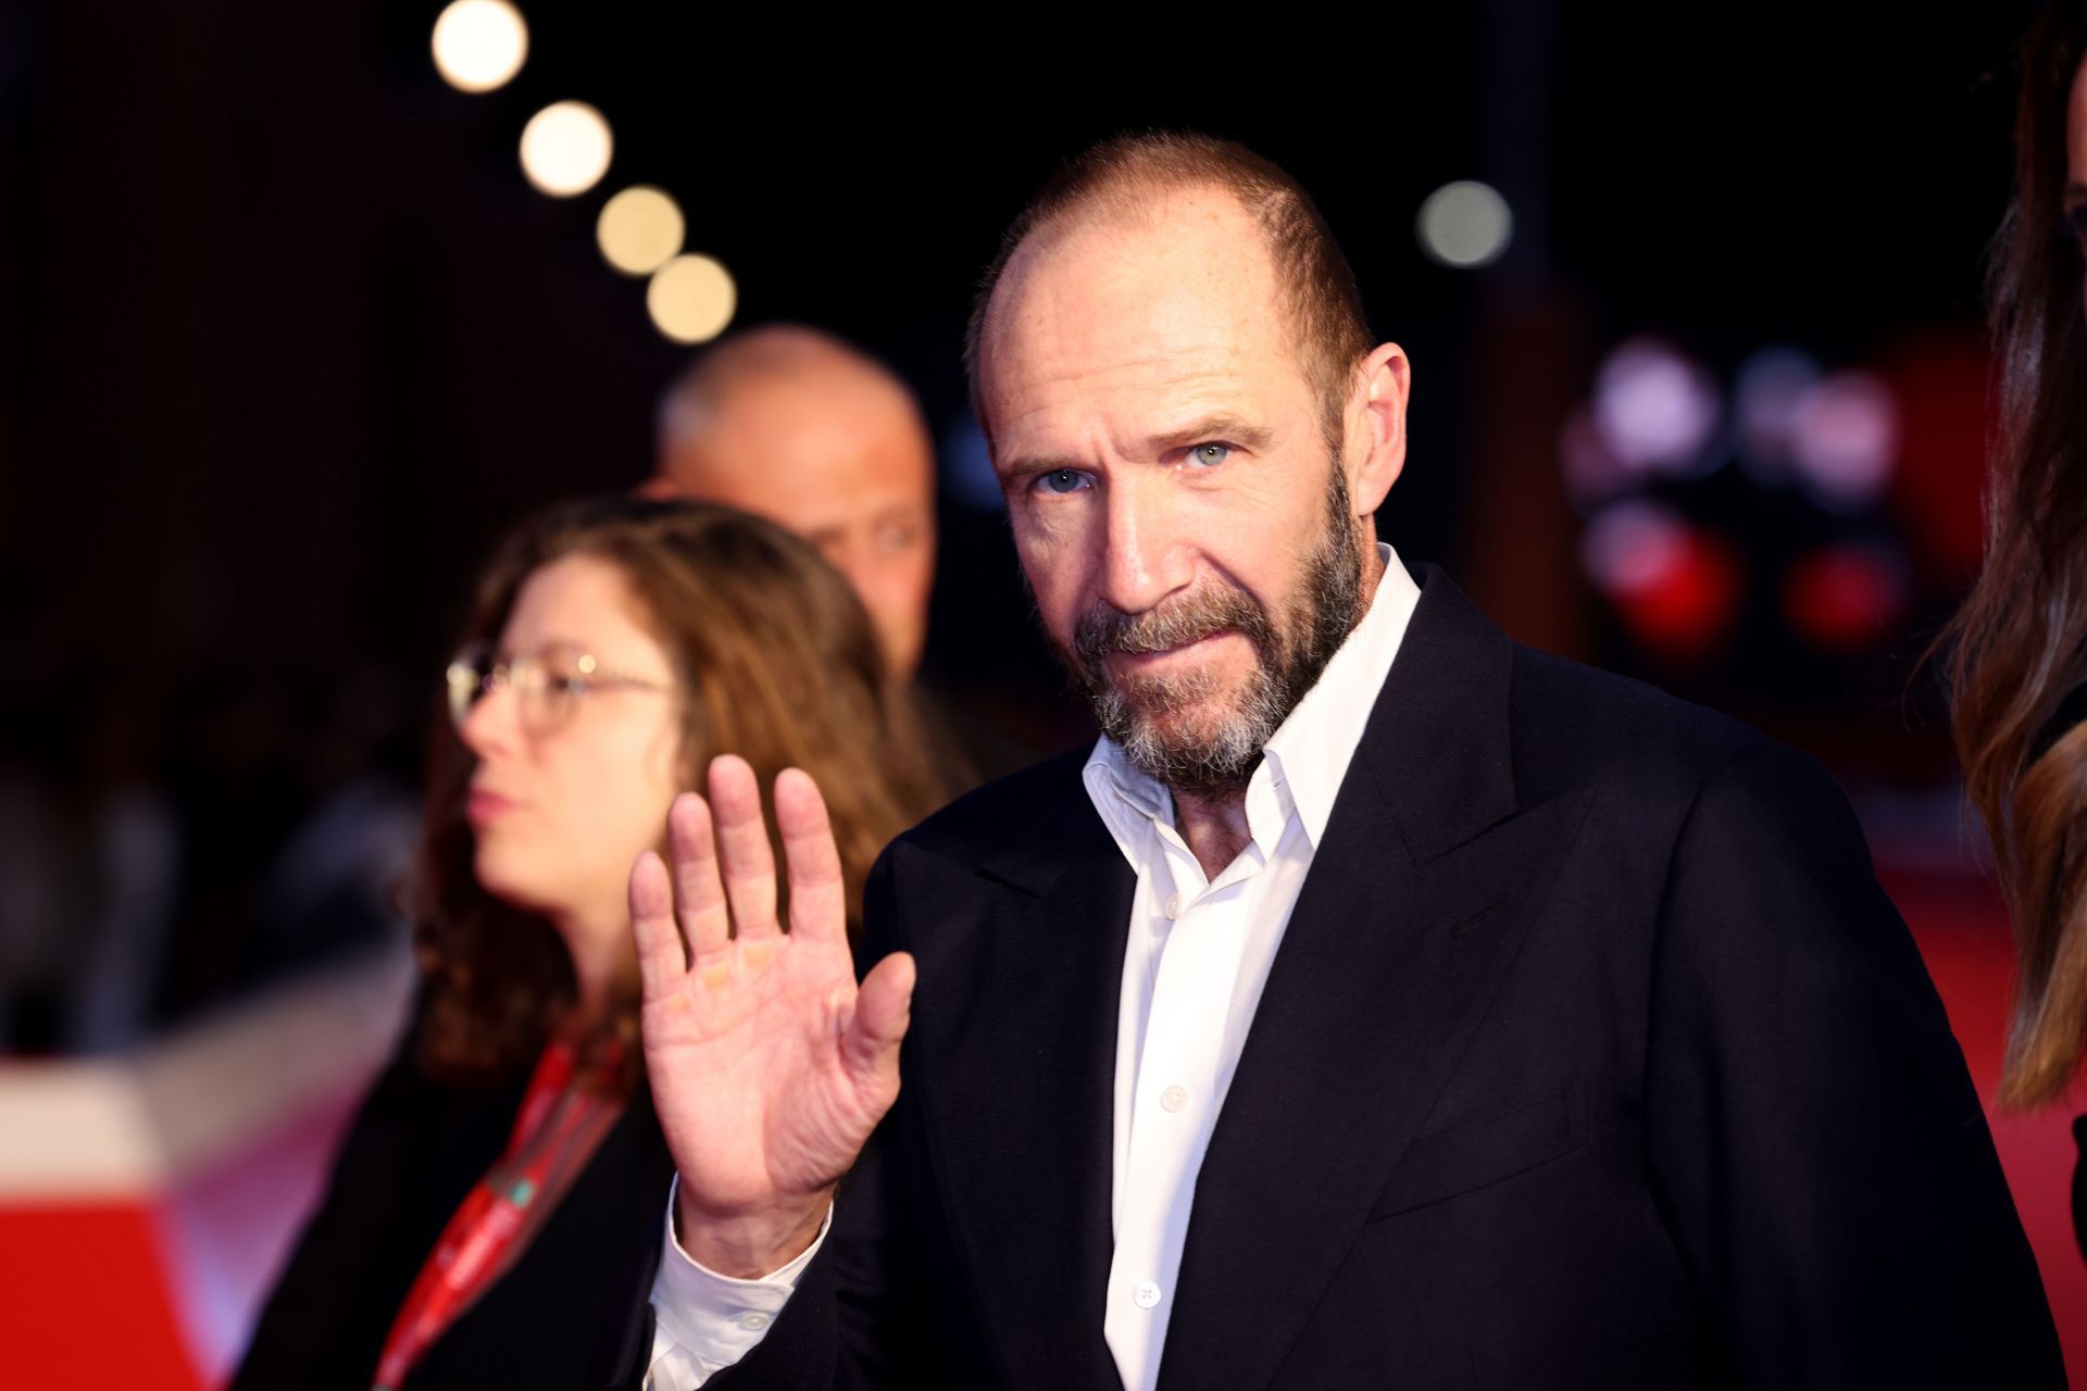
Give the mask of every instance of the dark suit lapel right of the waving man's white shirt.
<path id="1" fill-rule="evenodd" d="M 1569 807 L 1517 813 L 1513 644 L 1423 580 L 1202 1162 L 1162 1391 L 1275 1374 L 1567 843 Z"/>

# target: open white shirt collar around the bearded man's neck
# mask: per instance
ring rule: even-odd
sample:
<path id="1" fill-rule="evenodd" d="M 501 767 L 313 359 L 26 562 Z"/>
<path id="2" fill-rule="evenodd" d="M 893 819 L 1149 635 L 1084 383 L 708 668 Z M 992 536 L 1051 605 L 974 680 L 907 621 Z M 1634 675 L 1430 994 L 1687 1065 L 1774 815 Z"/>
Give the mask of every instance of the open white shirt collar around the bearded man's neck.
<path id="1" fill-rule="evenodd" d="M 1263 853 L 1275 849 L 1292 811 L 1315 849 L 1325 838 L 1334 799 L 1340 795 L 1342 778 L 1348 776 L 1354 747 L 1363 740 L 1363 726 L 1407 636 L 1421 590 L 1388 544 L 1377 542 L 1377 559 L 1384 561 L 1384 578 L 1371 594 L 1363 621 L 1269 738 L 1261 767 L 1246 784 L 1246 824 Z M 1133 865 L 1144 859 L 1135 847 L 1150 828 L 1173 826 L 1173 795 L 1156 778 L 1133 767 L 1123 749 L 1106 736 L 1094 740 L 1081 782 L 1117 849 Z"/>

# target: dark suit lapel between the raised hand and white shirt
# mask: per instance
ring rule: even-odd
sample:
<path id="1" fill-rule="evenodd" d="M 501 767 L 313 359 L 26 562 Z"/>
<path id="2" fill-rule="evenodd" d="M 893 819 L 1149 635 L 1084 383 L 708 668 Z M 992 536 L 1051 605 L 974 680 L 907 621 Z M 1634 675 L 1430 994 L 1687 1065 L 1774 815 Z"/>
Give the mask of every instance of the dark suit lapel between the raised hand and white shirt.
<path id="1" fill-rule="evenodd" d="M 1077 776 L 981 868 L 943 966 L 962 997 L 914 1005 L 927 1032 L 912 1078 L 950 1230 L 1008 1385 L 1117 1387 L 1102 1301 L 1135 878 Z"/>

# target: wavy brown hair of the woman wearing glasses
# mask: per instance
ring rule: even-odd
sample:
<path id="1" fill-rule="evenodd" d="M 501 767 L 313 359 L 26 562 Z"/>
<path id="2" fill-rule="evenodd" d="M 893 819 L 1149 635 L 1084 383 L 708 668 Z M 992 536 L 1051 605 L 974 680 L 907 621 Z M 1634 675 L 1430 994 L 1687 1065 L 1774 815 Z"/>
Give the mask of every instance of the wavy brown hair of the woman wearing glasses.
<path id="1" fill-rule="evenodd" d="M 639 619 L 676 665 L 685 786 L 699 786 L 718 753 L 747 759 L 762 786 L 785 767 L 818 780 L 854 932 L 870 863 L 943 788 L 912 697 L 885 674 L 847 580 L 783 528 L 728 507 L 589 498 L 507 538 L 478 580 L 461 642 L 497 640 L 522 584 L 572 555 L 622 569 Z M 407 882 L 426 974 L 419 1061 L 453 1080 L 528 1068 L 576 993 L 555 928 L 488 895 L 472 872 L 472 767 L 470 749 L 438 722 Z M 622 1001 L 616 1026 L 634 1036 L 634 999 Z"/>

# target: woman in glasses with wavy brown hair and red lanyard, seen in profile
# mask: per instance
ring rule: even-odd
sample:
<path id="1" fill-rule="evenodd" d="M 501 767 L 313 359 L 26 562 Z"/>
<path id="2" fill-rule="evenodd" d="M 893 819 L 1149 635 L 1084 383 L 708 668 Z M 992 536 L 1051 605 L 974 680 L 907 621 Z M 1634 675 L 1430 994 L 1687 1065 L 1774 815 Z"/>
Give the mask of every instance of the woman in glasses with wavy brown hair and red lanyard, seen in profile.
<path id="1" fill-rule="evenodd" d="M 712 759 L 824 790 L 851 922 L 933 763 L 847 582 L 722 507 L 591 501 L 484 571 L 411 905 L 422 1003 L 234 1387 L 568 1387 L 628 1310 L 672 1162 L 626 886 Z"/>

